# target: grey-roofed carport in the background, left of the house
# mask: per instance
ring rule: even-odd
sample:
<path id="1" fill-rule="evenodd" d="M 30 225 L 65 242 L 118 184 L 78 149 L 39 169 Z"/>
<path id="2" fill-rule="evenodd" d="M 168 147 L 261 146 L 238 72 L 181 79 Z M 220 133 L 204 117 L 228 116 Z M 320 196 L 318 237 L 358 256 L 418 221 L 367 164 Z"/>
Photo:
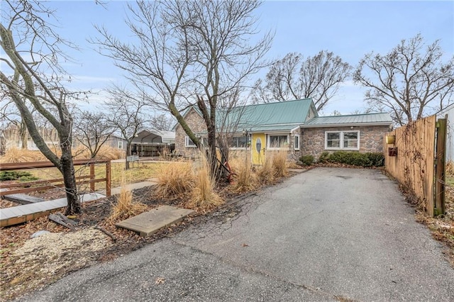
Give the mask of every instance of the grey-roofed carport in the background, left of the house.
<path id="1" fill-rule="evenodd" d="M 140 157 L 159 156 L 175 149 L 175 132 L 142 130 L 131 142 L 131 152 Z"/>

